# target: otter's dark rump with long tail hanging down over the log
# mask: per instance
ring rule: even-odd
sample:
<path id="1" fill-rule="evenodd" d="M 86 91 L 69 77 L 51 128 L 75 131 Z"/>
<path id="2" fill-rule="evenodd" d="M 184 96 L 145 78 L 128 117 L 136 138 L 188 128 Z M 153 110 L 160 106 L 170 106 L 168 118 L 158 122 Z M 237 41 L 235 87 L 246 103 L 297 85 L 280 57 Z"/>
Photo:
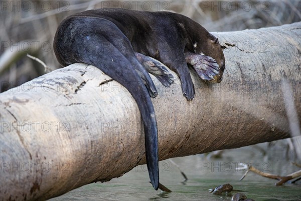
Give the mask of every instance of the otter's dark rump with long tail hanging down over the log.
<path id="1" fill-rule="evenodd" d="M 54 43 L 55 53 L 61 64 L 81 62 L 96 66 L 131 93 L 143 121 L 149 178 L 157 190 L 158 129 L 154 107 L 149 97 L 149 94 L 156 96 L 157 91 L 149 74 L 136 59 L 128 39 L 110 21 L 99 18 L 75 18 L 61 24 Z M 122 50 L 127 55 L 124 55 Z M 133 60 L 137 61 L 134 65 Z"/>

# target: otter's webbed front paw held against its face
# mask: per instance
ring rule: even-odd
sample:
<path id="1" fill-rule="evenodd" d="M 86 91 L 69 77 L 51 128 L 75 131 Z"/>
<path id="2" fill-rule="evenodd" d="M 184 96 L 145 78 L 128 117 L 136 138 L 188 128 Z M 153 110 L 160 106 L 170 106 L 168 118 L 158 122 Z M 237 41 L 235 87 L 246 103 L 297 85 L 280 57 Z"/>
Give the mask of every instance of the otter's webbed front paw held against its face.
<path id="1" fill-rule="evenodd" d="M 185 53 L 186 62 L 193 66 L 199 77 L 205 81 L 214 80 L 219 74 L 219 65 L 215 59 L 204 54 Z"/>

